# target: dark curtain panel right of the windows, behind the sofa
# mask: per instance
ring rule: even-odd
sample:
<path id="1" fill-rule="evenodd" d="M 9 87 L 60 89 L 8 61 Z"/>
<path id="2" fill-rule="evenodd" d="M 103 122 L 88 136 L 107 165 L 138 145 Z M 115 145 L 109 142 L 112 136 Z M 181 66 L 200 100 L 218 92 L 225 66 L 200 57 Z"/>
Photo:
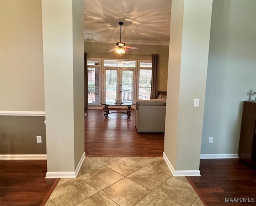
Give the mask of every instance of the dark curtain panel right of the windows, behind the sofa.
<path id="1" fill-rule="evenodd" d="M 150 99 L 157 99 L 157 85 L 158 85 L 158 54 L 152 55 L 152 80 L 151 80 L 151 94 Z"/>

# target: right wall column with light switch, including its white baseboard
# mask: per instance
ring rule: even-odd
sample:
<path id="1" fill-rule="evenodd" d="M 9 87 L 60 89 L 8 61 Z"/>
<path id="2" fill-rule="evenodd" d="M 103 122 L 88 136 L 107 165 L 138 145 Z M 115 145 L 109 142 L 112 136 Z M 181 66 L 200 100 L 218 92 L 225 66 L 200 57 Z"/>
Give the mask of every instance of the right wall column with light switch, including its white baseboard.
<path id="1" fill-rule="evenodd" d="M 175 176 L 200 175 L 211 14 L 212 0 L 172 1 L 164 157 Z"/>

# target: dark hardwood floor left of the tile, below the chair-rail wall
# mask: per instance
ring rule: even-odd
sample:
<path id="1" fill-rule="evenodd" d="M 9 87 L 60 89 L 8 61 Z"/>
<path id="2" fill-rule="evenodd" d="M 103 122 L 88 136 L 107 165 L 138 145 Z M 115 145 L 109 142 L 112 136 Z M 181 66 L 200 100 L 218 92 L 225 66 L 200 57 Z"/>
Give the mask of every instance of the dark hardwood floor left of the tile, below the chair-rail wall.
<path id="1" fill-rule="evenodd" d="M 57 180 L 46 171 L 46 160 L 0 160 L 0 205 L 40 205 Z"/>

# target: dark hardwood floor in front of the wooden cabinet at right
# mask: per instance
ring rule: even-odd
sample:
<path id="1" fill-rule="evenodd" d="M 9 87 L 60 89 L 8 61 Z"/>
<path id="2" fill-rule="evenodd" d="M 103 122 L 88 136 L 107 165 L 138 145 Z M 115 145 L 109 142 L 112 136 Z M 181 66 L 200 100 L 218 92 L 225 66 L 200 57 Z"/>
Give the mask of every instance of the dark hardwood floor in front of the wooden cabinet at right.
<path id="1" fill-rule="evenodd" d="M 209 206 L 256 205 L 256 169 L 242 160 L 202 159 L 200 172 L 200 177 L 188 178 Z M 225 202 L 225 198 L 233 202 Z"/>

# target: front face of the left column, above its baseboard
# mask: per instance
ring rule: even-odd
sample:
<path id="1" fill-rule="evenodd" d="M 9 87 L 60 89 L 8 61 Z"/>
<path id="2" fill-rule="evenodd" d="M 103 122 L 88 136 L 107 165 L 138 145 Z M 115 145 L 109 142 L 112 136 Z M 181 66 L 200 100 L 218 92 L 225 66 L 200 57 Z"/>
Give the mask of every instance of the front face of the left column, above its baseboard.
<path id="1" fill-rule="evenodd" d="M 74 171 L 72 2 L 42 1 L 42 26 L 47 170 Z"/>

